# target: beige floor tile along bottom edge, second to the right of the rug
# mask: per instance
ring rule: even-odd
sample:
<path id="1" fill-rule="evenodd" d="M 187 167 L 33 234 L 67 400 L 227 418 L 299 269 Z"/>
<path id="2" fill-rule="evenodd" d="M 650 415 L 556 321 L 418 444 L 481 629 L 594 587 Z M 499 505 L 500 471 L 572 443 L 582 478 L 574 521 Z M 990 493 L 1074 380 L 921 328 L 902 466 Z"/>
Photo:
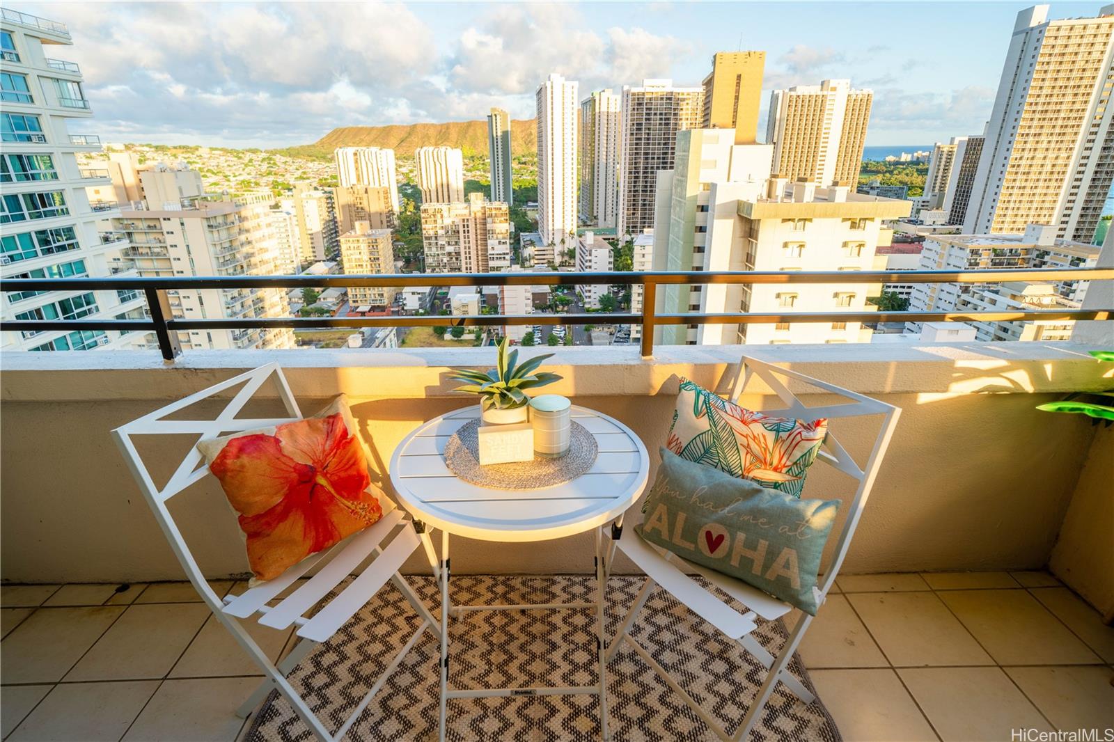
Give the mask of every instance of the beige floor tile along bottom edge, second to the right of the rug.
<path id="1" fill-rule="evenodd" d="M 1052 731 L 1000 667 L 912 667 L 898 674 L 944 742 L 1008 740 L 1015 729 Z"/>

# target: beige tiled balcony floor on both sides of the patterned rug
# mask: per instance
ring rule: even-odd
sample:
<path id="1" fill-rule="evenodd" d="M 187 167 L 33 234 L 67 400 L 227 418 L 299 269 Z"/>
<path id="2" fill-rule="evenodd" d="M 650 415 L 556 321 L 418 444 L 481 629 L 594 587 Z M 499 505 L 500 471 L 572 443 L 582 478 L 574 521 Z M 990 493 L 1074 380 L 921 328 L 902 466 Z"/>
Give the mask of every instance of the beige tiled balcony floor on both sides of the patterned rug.
<path id="1" fill-rule="evenodd" d="M 1114 726 L 1114 628 L 1051 575 L 848 575 L 837 587 L 801 656 L 848 742 Z M 233 710 L 258 673 L 188 583 L 3 586 L 0 605 L 4 740 L 244 732 Z M 275 660 L 292 641 L 252 632 Z"/>

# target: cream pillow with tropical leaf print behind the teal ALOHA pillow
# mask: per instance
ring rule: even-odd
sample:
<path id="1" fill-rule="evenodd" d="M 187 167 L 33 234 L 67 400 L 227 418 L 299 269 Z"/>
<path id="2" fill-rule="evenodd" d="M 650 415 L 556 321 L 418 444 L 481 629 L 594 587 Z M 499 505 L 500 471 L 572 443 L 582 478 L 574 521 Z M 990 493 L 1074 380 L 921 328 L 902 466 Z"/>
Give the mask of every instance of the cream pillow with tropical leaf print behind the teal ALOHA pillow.
<path id="1" fill-rule="evenodd" d="M 688 461 L 800 497 L 827 435 L 825 418 L 770 417 L 682 379 L 665 447 Z"/>

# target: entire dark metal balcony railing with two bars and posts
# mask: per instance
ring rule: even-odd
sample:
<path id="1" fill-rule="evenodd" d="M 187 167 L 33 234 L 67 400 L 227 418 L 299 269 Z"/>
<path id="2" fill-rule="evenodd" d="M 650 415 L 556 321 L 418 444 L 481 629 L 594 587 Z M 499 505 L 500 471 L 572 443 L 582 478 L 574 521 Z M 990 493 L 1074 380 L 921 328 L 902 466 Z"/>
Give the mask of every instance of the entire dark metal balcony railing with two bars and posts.
<path id="1" fill-rule="evenodd" d="M 154 331 L 163 358 L 182 353 L 177 333 L 184 330 L 245 330 L 256 328 L 380 328 L 380 326 L 501 326 L 551 324 L 641 324 L 642 354 L 654 351 L 656 325 L 761 324 L 784 322 L 1008 322 L 1019 320 L 1114 320 L 1114 306 L 1095 310 L 1034 310 L 999 312 L 687 312 L 658 313 L 659 286 L 704 284 L 883 284 L 883 283 L 999 283 L 1004 281 L 1110 281 L 1114 269 L 1020 269 L 1012 271 L 647 271 L 644 273 L 404 273 L 391 275 L 278 275 L 278 276 L 164 276 L 139 279 L 11 279 L 0 292 L 141 290 L 150 318 L 146 320 L 17 320 L 0 322 L 0 330 L 146 330 Z M 638 313 L 383 315 L 344 318 L 241 318 L 177 320 L 167 291 L 202 289 L 320 289 L 353 286 L 532 286 L 532 285 L 642 286 Z"/>

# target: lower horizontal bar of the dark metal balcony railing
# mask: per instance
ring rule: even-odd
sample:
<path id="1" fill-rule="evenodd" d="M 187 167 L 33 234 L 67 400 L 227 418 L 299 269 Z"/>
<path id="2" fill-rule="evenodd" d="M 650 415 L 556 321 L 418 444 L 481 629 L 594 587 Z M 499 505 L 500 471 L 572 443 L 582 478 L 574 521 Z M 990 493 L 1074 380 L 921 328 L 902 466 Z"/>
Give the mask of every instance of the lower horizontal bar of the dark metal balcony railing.
<path id="1" fill-rule="evenodd" d="M 778 322 L 1006 322 L 1015 320 L 1111 320 L 1108 310 L 1033 310 L 1028 312 L 790 312 L 740 314 L 656 314 L 657 324 L 762 324 Z M 641 314 L 481 314 L 392 315 L 344 318 L 258 318 L 236 320 L 168 320 L 170 330 L 251 330 L 258 328 L 429 328 L 501 326 L 555 324 L 641 324 Z M 3 330 L 155 330 L 145 320 L 14 320 L 3 322 Z"/>

